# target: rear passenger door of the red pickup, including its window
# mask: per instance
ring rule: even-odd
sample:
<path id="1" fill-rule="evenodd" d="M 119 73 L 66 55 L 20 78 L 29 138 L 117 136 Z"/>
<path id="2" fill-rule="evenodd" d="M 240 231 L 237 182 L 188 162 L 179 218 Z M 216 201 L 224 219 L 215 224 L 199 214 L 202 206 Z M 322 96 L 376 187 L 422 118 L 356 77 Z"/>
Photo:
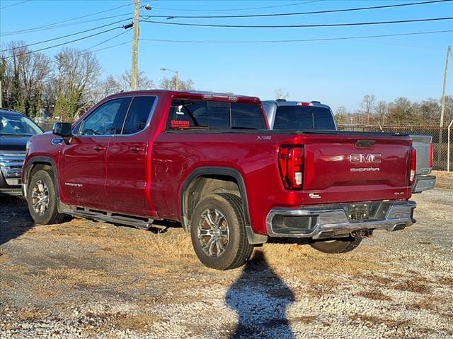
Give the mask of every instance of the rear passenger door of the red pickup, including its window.
<path id="1" fill-rule="evenodd" d="M 147 208 L 147 126 L 156 107 L 156 96 L 132 98 L 121 133 L 110 139 L 105 161 L 105 191 L 110 206 L 119 212 L 137 214 Z"/>

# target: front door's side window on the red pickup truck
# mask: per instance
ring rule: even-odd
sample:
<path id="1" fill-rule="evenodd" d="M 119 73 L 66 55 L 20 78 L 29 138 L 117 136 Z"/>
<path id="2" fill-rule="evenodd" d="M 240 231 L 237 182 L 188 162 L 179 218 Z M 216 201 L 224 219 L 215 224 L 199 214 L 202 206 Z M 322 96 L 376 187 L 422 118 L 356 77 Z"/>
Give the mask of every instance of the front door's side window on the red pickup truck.
<path id="1" fill-rule="evenodd" d="M 79 136 L 119 134 L 120 128 L 117 126 L 117 121 L 127 110 L 129 103 L 130 97 L 120 97 L 105 102 L 82 121 Z"/>

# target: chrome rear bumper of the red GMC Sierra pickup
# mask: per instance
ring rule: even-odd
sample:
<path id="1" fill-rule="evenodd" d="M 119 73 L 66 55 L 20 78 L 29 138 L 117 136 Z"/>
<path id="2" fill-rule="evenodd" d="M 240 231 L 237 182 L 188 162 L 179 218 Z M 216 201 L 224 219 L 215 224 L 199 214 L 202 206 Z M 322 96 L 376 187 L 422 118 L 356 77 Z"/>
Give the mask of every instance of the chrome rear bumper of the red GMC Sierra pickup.
<path id="1" fill-rule="evenodd" d="M 270 237 L 323 239 L 344 237 L 359 230 L 402 230 L 415 222 L 413 219 L 415 201 L 382 202 L 377 208 L 375 218 L 360 221 L 348 219 L 349 205 L 351 204 L 319 205 L 298 209 L 275 208 L 270 210 L 266 219 L 268 235 Z M 278 225 L 276 217 L 283 220 Z M 289 218 L 285 219 L 285 217 Z M 302 218 L 294 218 L 294 222 L 291 217 Z M 289 222 L 285 223 L 285 220 L 289 220 Z M 299 230 L 297 228 L 298 220 L 304 223 Z"/>

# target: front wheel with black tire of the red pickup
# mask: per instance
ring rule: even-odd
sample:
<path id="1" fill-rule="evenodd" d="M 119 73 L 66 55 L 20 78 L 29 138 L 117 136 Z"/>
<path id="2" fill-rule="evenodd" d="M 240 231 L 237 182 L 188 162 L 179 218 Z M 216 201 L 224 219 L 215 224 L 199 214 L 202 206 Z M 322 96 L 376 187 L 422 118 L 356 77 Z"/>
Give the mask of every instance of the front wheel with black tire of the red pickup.
<path id="1" fill-rule="evenodd" d="M 47 192 L 47 194 L 45 194 Z M 47 195 L 47 205 L 43 206 L 36 205 L 38 196 Z M 55 190 L 55 183 L 52 177 L 52 172 L 41 169 L 40 171 L 33 174 L 28 184 L 27 192 L 28 210 L 30 211 L 31 218 L 40 225 L 51 225 L 58 224 L 64 219 L 64 214 L 58 213 L 58 197 L 57 191 Z M 44 198 L 44 200 L 46 199 Z M 39 206 L 39 210 L 37 207 Z"/>

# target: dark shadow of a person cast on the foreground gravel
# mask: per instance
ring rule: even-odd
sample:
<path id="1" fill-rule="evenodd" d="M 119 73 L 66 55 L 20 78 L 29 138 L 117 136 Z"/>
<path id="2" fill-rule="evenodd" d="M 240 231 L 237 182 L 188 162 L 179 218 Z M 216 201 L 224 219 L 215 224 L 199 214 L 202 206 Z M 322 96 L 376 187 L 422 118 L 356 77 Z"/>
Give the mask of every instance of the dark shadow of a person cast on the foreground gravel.
<path id="1" fill-rule="evenodd" d="M 263 251 L 255 251 L 225 299 L 239 314 L 231 338 L 295 338 L 286 315 L 294 293 L 270 268 Z"/>

